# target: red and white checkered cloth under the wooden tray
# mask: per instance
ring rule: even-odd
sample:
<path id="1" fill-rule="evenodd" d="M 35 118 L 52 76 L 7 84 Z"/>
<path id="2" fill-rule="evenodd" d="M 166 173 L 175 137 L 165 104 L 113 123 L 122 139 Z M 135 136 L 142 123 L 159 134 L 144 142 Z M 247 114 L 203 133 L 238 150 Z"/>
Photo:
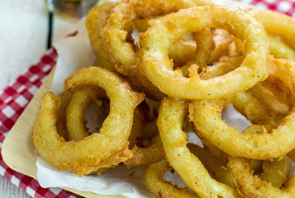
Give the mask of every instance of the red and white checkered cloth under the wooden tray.
<path id="1" fill-rule="evenodd" d="M 295 0 L 241 0 L 260 8 L 286 13 L 295 18 Z M 24 111 L 50 70 L 56 63 L 57 53 L 51 49 L 27 71 L 0 91 L 0 152 L 4 138 Z M 74 198 L 81 196 L 60 188 L 42 188 L 37 180 L 9 168 L 0 155 L 0 174 L 36 198 Z"/>

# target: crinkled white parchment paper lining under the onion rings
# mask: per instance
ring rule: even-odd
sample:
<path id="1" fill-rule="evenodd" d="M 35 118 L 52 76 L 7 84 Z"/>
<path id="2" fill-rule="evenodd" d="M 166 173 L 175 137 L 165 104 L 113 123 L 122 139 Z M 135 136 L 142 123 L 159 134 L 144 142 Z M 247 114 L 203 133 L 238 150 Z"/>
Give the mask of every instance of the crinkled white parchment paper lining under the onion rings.
<path id="1" fill-rule="evenodd" d="M 230 3 L 229 3 L 230 2 Z M 238 7 L 238 2 L 224 0 L 218 4 Z M 64 90 L 64 79 L 83 67 L 97 66 L 96 52 L 91 47 L 84 22 L 78 24 L 79 35 L 68 37 L 54 43 L 58 51 L 58 61 L 55 69 L 51 91 L 59 94 Z M 242 131 L 250 122 L 237 113 L 232 107 L 222 113 L 223 119 L 232 126 L 235 124 Z M 87 117 L 87 116 L 86 116 Z M 89 123 L 92 121 L 89 120 Z M 90 126 L 95 128 L 95 126 Z M 190 133 L 189 142 L 201 145 L 199 139 Z M 71 187 L 80 191 L 93 191 L 99 194 L 122 194 L 127 197 L 155 197 L 146 188 L 142 178 L 143 167 L 127 169 L 126 167 L 114 167 L 102 176 L 78 177 L 69 171 L 59 171 L 45 162 L 40 156 L 37 158 L 37 177 L 42 187 Z M 294 173 L 294 166 L 289 170 Z M 167 173 L 165 179 L 178 186 L 186 186 L 177 173 Z"/>

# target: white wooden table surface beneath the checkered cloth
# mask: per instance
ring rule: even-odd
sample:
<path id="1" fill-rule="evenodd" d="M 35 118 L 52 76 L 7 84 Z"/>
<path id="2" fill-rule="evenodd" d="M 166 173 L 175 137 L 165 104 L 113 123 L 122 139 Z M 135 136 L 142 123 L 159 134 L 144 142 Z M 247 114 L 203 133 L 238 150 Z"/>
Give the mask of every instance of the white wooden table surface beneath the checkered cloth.
<path id="1" fill-rule="evenodd" d="M 45 0 L 0 0 L 0 90 L 46 51 L 48 14 Z M 53 19 L 53 41 L 75 30 L 75 22 Z M 31 196 L 0 176 L 0 198 Z"/>

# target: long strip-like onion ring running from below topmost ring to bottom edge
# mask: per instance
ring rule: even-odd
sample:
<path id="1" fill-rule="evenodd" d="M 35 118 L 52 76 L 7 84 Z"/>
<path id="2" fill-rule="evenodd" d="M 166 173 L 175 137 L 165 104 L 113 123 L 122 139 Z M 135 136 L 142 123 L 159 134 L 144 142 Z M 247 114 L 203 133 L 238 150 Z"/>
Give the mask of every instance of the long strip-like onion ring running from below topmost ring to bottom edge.
<path id="1" fill-rule="evenodd" d="M 168 162 L 183 181 L 201 197 L 240 197 L 231 186 L 212 179 L 200 160 L 187 145 L 187 134 L 181 130 L 187 113 L 188 101 L 165 98 L 159 111 L 157 125 Z"/>

